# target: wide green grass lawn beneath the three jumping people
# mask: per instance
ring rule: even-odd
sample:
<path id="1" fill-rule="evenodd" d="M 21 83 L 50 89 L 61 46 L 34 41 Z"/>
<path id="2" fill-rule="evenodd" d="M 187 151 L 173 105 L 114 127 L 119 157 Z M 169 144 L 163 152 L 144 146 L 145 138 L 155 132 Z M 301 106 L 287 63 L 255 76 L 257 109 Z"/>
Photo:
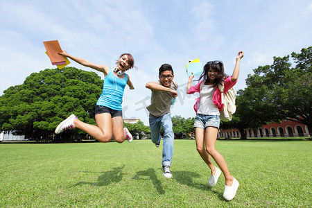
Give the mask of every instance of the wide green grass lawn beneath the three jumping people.
<path id="1" fill-rule="evenodd" d="M 217 141 L 240 182 L 207 187 L 194 140 L 175 140 L 173 178 L 162 144 L 0 144 L 0 207 L 312 207 L 311 141 Z"/>

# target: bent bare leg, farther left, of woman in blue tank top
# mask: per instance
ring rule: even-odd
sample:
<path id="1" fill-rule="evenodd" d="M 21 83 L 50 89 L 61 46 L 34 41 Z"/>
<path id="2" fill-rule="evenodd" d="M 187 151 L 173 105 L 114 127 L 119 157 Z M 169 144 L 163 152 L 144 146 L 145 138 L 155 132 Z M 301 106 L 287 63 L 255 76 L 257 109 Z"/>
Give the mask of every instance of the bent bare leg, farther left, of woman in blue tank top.
<path id="1" fill-rule="evenodd" d="M 98 141 L 110 141 L 112 139 L 112 116 L 104 113 L 96 114 L 95 118 L 98 126 L 85 123 L 79 119 L 73 121 L 73 124 Z"/>

